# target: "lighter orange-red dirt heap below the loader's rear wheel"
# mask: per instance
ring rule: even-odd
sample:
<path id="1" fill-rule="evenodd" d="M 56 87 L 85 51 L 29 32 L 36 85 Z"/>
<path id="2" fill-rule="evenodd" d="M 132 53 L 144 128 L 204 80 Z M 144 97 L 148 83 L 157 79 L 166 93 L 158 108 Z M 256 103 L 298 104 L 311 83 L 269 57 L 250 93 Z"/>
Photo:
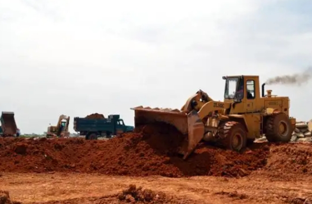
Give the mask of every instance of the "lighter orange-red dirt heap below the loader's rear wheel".
<path id="1" fill-rule="evenodd" d="M 312 174 L 312 144 L 274 145 L 263 170 L 283 178 L 291 174 Z"/>

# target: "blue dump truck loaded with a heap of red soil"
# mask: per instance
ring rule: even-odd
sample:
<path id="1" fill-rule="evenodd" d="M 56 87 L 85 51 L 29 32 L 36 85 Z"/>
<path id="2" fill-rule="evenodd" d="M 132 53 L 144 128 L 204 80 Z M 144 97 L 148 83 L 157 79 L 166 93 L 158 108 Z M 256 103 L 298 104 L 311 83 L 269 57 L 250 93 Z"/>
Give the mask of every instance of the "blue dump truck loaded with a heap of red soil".
<path id="1" fill-rule="evenodd" d="M 122 133 L 133 132 L 134 126 L 125 125 L 119 115 L 109 115 L 108 118 L 90 119 L 74 118 L 74 130 L 86 139 L 112 137 Z"/>

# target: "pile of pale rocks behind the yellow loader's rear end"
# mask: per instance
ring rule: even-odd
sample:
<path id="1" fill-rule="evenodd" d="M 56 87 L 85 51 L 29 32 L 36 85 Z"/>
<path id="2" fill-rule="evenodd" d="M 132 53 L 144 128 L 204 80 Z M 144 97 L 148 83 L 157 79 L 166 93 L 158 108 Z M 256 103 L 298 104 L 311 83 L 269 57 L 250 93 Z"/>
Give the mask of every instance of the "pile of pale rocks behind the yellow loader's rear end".
<path id="1" fill-rule="evenodd" d="M 312 141 L 312 120 L 309 122 L 297 122 L 291 141 Z"/>

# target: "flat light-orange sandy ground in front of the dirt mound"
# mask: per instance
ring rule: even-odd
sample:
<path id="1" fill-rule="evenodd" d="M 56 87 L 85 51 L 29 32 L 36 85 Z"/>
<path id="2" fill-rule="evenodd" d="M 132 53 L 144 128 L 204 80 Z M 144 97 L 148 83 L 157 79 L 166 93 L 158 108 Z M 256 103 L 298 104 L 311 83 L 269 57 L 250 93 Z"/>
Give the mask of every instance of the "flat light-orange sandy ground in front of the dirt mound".
<path id="1" fill-rule="evenodd" d="M 124 177 L 75 173 L 3 173 L 0 177 L 0 189 L 9 191 L 12 200 L 24 204 L 113 203 L 104 202 L 105 196 L 116 194 L 130 184 L 176 196 L 182 203 L 303 204 L 306 198 L 312 198 L 311 183 L 312 176 L 294 181 L 273 181 L 256 173 L 239 179 L 209 176 Z M 103 202 L 100 202 L 101 199 L 104 199 Z"/>

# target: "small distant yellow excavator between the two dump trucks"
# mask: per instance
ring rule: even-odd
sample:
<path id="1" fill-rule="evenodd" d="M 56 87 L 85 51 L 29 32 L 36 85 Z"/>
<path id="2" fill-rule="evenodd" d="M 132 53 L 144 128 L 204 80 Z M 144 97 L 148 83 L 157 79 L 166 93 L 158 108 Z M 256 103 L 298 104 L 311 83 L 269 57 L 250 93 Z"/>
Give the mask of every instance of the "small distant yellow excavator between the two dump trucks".
<path id="1" fill-rule="evenodd" d="M 59 121 L 56 126 L 48 127 L 47 138 L 56 138 L 56 137 L 69 137 L 68 125 L 69 125 L 69 116 L 60 115 Z"/>

